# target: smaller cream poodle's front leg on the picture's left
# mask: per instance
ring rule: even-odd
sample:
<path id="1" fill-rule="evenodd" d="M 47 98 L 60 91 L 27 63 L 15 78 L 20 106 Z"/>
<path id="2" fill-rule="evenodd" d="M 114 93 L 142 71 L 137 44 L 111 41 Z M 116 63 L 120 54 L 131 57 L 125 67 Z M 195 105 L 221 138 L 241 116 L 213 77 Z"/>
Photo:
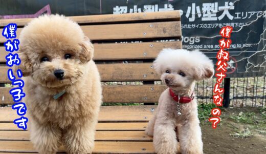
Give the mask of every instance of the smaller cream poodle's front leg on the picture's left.
<path id="1" fill-rule="evenodd" d="M 175 154 L 178 152 L 178 141 L 174 127 L 173 121 L 157 118 L 153 133 L 153 146 L 157 153 Z"/>

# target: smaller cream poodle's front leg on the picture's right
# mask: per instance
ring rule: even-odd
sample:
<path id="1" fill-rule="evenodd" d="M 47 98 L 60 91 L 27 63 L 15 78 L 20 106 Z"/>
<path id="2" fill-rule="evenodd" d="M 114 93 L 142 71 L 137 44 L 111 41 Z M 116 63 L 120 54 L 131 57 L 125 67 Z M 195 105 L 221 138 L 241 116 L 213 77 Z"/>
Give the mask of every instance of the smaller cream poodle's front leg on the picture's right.
<path id="1" fill-rule="evenodd" d="M 178 130 L 181 153 L 203 154 L 202 131 L 196 116 L 178 127 Z"/>

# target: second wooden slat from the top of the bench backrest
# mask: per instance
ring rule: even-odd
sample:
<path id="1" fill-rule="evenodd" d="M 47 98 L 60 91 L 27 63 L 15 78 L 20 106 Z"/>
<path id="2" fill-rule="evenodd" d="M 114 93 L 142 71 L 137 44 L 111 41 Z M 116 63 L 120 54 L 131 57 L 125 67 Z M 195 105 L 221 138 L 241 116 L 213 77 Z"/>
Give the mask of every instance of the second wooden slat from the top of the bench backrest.
<path id="1" fill-rule="evenodd" d="M 87 25 L 81 26 L 81 28 L 84 34 L 93 41 L 181 36 L 180 22 Z M 21 29 L 17 28 L 17 38 L 19 38 Z M 3 28 L 0 31 L 3 31 Z M 6 41 L 7 39 L 0 35 L 0 42 L 4 43 Z"/>

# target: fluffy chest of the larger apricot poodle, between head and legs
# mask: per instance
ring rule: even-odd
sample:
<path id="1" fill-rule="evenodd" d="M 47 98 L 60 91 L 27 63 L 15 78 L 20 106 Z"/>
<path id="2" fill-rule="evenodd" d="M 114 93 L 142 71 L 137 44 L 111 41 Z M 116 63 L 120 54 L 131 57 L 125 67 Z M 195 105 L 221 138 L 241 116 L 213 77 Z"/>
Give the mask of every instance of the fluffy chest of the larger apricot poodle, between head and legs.
<path id="1" fill-rule="evenodd" d="M 43 89 L 33 84 L 25 88 L 27 92 L 25 102 L 30 117 L 40 124 L 50 124 L 62 129 L 75 123 L 77 119 L 94 118 L 96 108 L 100 105 L 91 96 L 93 85 L 87 85 L 82 92 L 64 93 L 58 100 L 53 95 L 47 95 Z M 32 97 L 34 95 L 34 97 Z M 99 105 L 96 105 L 99 104 Z"/>

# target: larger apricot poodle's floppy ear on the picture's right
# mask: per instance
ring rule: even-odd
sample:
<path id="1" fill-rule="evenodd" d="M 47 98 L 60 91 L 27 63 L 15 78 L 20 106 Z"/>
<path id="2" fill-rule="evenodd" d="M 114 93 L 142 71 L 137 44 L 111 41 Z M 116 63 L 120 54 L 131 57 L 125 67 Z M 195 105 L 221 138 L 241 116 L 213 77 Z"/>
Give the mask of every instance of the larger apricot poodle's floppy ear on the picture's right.
<path id="1" fill-rule="evenodd" d="M 88 37 L 84 37 L 83 41 L 79 44 L 81 51 L 79 53 L 79 59 L 82 63 L 86 63 L 93 59 L 94 47 Z"/>

